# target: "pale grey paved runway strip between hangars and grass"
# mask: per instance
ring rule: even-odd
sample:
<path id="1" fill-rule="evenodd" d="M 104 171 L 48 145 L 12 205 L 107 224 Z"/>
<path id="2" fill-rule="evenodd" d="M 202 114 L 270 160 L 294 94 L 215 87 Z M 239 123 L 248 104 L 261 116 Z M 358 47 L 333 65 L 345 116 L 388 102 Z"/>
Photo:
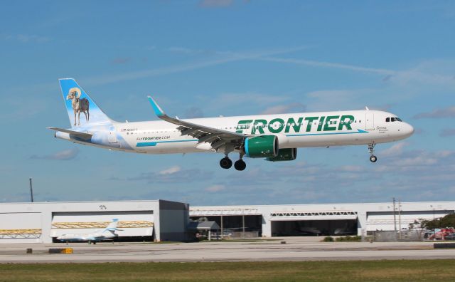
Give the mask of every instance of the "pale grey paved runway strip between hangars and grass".
<path id="1" fill-rule="evenodd" d="M 455 258 L 455 249 L 433 249 L 433 242 L 336 243 L 281 241 L 176 244 L 99 243 L 1 244 L 0 263 L 94 263 L 141 261 L 333 261 Z M 73 254 L 48 254 L 49 248 L 73 248 Z M 26 249 L 33 254 L 26 254 Z"/>

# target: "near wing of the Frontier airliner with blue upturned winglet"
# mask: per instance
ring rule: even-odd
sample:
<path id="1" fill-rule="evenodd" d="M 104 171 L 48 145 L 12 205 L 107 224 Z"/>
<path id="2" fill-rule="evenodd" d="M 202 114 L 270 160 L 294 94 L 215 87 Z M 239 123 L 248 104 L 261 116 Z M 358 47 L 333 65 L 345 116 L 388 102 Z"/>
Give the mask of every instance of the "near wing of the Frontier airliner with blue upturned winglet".
<path id="1" fill-rule="evenodd" d="M 182 135 L 195 137 L 199 140 L 199 143 L 210 143 L 212 149 L 218 150 L 220 147 L 226 147 L 227 145 L 232 145 L 232 147 L 235 149 L 240 149 L 240 146 L 242 145 L 245 137 L 250 136 L 237 132 L 231 132 L 228 130 L 221 130 L 215 127 L 198 125 L 193 122 L 179 120 L 175 117 L 169 117 L 166 115 L 166 113 L 164 113 L 164 111 L 153 98 L 150 96 L 148 98 L 151 107 L 154 108 L 155 114 L 161 118 L 161 120 L 166 120 L 166 122 L 171 122 L 174 125 L 178 125 L 177 129 L 181 131 Z"/>

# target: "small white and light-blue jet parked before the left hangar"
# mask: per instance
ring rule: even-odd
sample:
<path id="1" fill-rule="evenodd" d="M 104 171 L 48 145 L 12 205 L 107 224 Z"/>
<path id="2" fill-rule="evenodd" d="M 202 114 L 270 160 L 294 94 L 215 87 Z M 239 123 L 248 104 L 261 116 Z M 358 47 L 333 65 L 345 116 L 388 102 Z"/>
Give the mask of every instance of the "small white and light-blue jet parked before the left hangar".
<path id="1" fill-rule="evenodd" d="M 57 237 L 57 240 L 63 241 L 63 242 L 85 242 L 87 241 L 88 244 L 93 243 L 94 245 L 97 244 L 99 241 L 107 241 L 107 240 L 113 240 L 115 237 L 118 235 L 115 234 L 116 230 L 122 230 L 122 229 L 117 229 L 117 224 L 119 222 L 119 219 L 112 219 L 112 222 L 102 231 L 97 230 L 95 232 L 87 233 L 87 234 L 80 234 L 80 233 L 71 233 L 71 234 L 63 234 L 61 236 Z"/>

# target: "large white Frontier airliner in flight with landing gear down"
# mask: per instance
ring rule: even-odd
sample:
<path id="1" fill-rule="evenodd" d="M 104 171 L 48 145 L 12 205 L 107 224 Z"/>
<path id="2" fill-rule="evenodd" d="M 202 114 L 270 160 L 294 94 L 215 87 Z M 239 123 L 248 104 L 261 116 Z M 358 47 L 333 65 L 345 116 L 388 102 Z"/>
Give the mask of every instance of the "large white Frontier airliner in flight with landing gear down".
<path id="1" fill-rule="evenodd" d="M 82 145 L 143 154 L 217 152 L 225 155 L 220 167 L 229 169 L 236 153 L 237 170 L 243 157 L 271 162 L 295 160 L 299 147 L 367 145 L 376 162 L 375 145 L 410 137 L 414 127 L 380 110 L 343 110 L 319 113 L 247 115 L 180 119 L 171 117 L 148 96 L 158 121 L 111 120 L 73 78 L 59 80 L 71 128 L 48 127 L 55 137 Z M 81 113 L 83 114 L 80 117 Z"/>

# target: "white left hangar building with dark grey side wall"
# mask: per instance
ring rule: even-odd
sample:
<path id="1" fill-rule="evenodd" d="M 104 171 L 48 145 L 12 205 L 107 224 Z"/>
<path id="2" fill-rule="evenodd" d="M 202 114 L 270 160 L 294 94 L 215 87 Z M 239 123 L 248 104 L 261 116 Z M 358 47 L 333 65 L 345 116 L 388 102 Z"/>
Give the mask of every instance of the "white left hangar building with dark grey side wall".
<path id="1" fill-rule="evenodd" d="M 0 204 L 0 243 L 51 243 L 63 234 L 87 234 L 119 219 L 120 240 L 187 239 L 188 204 L 156 201 Z"/>

